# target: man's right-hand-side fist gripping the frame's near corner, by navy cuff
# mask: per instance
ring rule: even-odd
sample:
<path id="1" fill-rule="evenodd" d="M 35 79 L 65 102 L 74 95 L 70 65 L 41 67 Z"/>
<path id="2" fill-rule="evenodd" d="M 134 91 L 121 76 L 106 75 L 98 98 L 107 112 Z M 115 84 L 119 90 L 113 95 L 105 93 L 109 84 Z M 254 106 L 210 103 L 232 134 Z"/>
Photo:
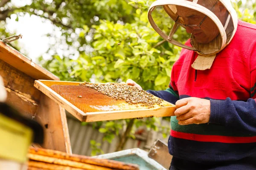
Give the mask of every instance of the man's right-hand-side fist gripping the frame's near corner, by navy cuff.
<path id="1" fill-rule="evenodd" d="M 188 97 L 178 100 L 174 112 L 179 125 L 208 123 L 210 119 L 210 100 Z"/>

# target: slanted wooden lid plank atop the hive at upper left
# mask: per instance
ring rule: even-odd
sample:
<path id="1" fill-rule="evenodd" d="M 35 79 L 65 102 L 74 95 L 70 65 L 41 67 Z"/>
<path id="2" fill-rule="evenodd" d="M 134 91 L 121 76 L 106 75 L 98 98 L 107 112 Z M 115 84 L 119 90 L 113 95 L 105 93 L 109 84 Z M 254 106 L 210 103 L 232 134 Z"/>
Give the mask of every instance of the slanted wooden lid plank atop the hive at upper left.
<path id="1" fill-rule="evenodd" d="M 34 79 L 59 80 L 57 76 L 40 67 L 19 51 L 0 40 L 0 59 Z"/>

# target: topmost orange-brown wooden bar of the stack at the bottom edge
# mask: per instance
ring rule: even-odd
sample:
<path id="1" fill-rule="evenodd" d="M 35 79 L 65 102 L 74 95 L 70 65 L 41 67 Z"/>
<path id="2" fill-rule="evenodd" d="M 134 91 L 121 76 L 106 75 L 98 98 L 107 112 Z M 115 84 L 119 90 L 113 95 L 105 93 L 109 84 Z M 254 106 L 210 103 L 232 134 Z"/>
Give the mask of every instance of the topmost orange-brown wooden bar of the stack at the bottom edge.
<path id="1" fill-rule="evenodd" d="M 34 155 L 50 156 L 58 159 L 77 161 L 77 162 L 86 163 L 86 164 L 99 165 L 102 167 L 110 167 L 110 168 L 119 169 L 119 170 L 138 170 L 138 167 L 135 164 L 108 160 L 108 159 L 92 158 L 90 156 L 82 156 L 82 155 L 76 155 L 76 154 L 70 155 L 57 150 L 30 147 L 29 153 Z"/>

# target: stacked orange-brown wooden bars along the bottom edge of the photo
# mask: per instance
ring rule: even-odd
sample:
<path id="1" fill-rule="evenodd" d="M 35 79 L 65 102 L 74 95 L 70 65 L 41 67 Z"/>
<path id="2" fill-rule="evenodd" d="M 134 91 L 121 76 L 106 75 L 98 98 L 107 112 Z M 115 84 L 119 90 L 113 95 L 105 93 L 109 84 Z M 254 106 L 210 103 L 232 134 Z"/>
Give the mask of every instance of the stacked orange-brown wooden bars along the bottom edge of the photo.
<path id="1" fill-rule="evenodd" d="M 136 164 L 30 147 L 28 170 L 139 170 Z"/>

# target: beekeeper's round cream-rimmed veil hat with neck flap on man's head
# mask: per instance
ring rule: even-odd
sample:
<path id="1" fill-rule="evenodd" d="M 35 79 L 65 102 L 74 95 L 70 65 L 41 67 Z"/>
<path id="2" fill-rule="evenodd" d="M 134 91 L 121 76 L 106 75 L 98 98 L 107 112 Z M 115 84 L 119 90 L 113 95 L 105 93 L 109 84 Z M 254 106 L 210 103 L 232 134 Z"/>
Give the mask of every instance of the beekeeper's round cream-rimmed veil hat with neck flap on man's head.
<path id="1" fill-rule="evenodd" d="M 198 53 L 192 64 L 197 70 L 211 68 L 238 23 L 230 0 L 157 0 L 148 10 L 148 20 L 166 41 Z"/>

